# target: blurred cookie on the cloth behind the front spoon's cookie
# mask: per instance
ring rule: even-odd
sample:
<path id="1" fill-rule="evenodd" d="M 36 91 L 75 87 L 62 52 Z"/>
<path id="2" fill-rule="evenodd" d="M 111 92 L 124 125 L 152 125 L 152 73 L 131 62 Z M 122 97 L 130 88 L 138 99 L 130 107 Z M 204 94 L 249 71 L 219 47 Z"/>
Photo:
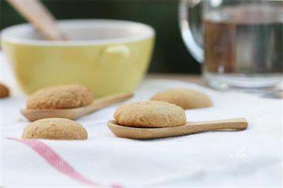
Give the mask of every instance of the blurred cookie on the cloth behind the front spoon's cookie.
<path id="1" fill-rule="evenodd" d="M 198 90 L 176 88 L 154 95 L 151 100 L 170 102 L 184 110 L 212 106 L 212 100 Z"/>

